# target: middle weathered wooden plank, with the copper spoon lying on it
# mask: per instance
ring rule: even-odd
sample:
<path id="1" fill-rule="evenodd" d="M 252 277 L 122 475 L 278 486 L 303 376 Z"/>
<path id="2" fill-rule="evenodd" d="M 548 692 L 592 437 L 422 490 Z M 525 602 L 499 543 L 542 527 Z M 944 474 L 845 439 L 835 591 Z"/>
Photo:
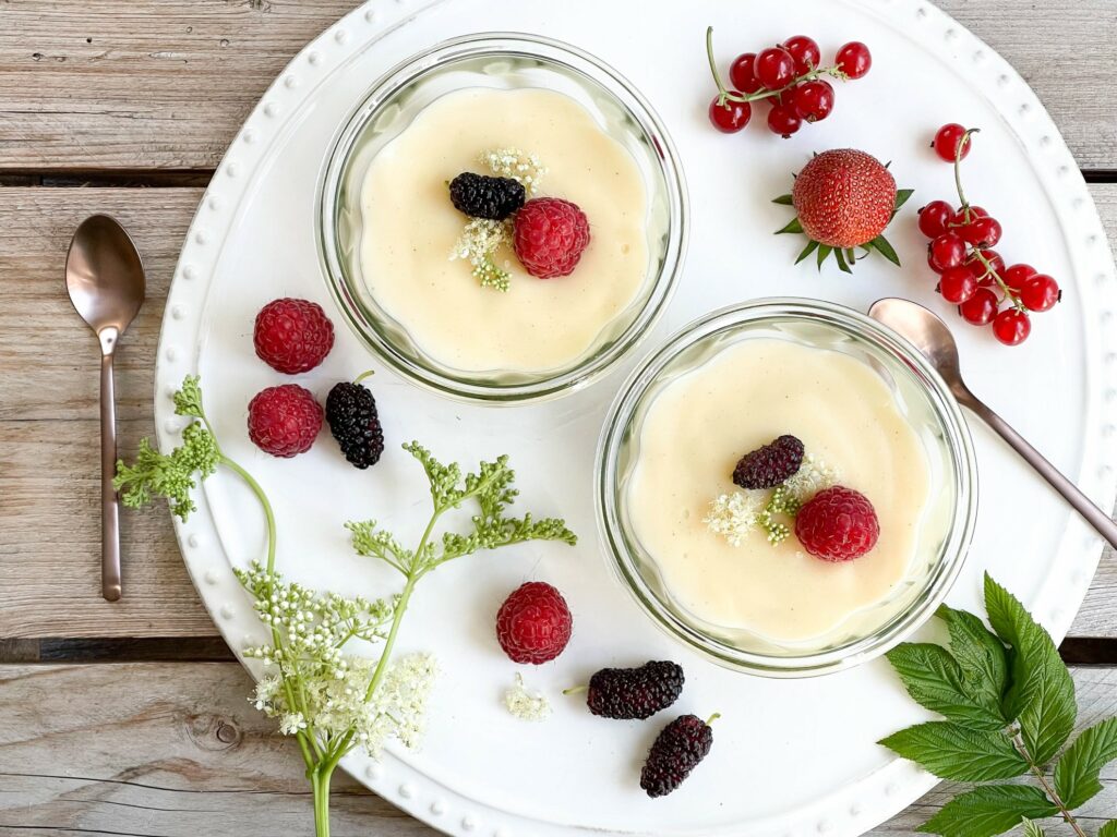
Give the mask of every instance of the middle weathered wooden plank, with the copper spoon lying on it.
<path id="1" fill-rule="evenodd" d="M 1092 186 L 1110 235 L 1117 185 Z M 163 300 L 199 190 L 0 189 L 0 637 L 216 633 L 161 510 L 125 512 L 126 596 L 97 593 L 98 356 L 63 288 L 66 246 L 86 214 L 117 215 L 147 267 L 149 299 L 121 346 L 121 448 L 150 434 Z M 1117 558 L 1107 554 L 1072 633 L 1117 636 Z"/>

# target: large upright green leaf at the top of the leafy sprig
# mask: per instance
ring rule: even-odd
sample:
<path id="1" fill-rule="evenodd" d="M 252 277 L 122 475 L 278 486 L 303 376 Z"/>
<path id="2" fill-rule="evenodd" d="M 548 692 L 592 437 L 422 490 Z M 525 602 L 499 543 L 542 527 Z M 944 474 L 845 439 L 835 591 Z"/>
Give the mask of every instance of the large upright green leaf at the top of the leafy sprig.
<path id="1" fill-rule="evenodd" d="M 1003 704 L 1005 718 L 1020 721 L 1032 759 L 1038 764 L 1046 764 L 1075 730 L 1078 716 L 1075 682 L 1048 632 L 989 574 L 985 575 L 985 608 L 997 636 L 1013 647 L 1010 656 L 1012 685 Z"/>

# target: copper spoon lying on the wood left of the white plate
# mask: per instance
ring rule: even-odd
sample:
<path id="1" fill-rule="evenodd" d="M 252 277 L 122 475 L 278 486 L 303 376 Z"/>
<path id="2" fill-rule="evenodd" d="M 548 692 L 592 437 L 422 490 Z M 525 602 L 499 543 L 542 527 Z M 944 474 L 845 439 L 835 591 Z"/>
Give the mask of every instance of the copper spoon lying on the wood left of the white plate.
<path id="1" fill-rule="evenodd" d="M 66 253 L 66 289 L 78 315 L 101 343 L 101 595 L 121 597 L 120 506 L 116 474 L 116 395 L 113 353 L 143 305 L 143 262 L 114 219 L 90 215 Z"/>

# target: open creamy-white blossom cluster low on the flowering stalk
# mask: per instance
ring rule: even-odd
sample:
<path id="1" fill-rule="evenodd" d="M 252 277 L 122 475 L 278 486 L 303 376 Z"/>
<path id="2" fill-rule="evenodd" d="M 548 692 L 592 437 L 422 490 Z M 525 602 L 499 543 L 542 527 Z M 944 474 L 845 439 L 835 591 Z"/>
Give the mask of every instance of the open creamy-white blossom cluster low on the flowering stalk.
<path id="1" fill-rule="evenodd" d="M 424 730 L 427 699 L 437 667 L 429 654 L 411 654 L 390 664 L 371 700 L 366 700 L 376 661 L 345 657 L 344 666 L 299 666 L 292 680 L 299 691 L 303 711 L 292 711 L 283 681 L 269 675 L 257 685 L 249 701 L 269 718 L 279 720 L 279 731 L 294 735 L 313 724 L 319 735 L 338 737 L 354 731 L 354 741 L 376 758 L 390 738 L 405 747 L 418 747 Z"/>

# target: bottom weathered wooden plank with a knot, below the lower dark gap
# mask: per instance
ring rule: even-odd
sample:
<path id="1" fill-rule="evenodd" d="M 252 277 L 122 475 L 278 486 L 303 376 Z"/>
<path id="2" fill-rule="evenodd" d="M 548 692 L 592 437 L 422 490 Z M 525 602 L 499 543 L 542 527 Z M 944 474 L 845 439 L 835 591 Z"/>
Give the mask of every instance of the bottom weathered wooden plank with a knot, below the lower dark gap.
<path id="1" fill-rule="evenodd" d="M 1117 712 L 1117 670 L 1079 668 L 1075 680 L 1082 725 Z M 0 833 L 308 834 L 302 760 L 248 690 L 233 663 L 0 666 Z M 1117 764 L 1104 780 L 1083 809 L 1091 834 L 1117 810 Z M 873 834 L 911 835 L 955 790 Z M 333 810 L 340 835 L 433 834 L 341 773 Z"/>

